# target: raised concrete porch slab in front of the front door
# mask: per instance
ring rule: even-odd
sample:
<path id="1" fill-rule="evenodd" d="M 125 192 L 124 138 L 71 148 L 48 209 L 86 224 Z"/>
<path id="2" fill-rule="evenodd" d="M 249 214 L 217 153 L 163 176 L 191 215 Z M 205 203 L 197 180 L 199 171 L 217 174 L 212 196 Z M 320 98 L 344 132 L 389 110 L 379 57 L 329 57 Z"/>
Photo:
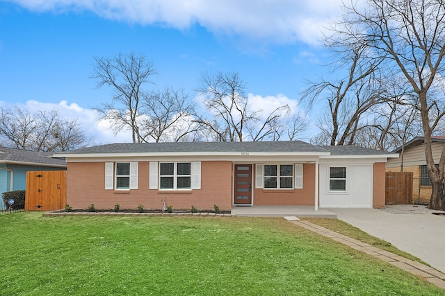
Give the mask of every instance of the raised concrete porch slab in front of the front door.
<path id="1" fill-rule="evenodd" d="M 327 209 L 318 209 L 314 206 L 233 206 L 232 215 L 238 217 L 314 217 L 337 218 L 337 214 Z"/>

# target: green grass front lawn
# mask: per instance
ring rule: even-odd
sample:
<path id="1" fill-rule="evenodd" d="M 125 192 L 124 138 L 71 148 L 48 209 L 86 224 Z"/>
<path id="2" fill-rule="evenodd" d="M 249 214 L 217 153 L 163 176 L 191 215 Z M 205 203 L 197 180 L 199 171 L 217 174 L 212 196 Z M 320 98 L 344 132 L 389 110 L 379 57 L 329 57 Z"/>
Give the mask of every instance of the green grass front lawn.
<path id="1" fill-rule="evenodd" d="M 445 295 L 282 218 L 0 216 L 0 295 Z"/>

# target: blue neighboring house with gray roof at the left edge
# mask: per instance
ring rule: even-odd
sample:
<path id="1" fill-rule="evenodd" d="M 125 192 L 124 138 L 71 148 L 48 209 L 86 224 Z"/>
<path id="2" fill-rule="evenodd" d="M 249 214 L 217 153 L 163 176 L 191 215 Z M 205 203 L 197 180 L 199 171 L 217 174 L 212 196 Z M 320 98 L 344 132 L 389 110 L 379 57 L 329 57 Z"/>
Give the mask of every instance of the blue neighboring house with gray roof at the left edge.
<path id="1" fill-rule="evenodd" d="M 52 154 L 0 147 L 0 193 L 25 190 L 28 171 L 65 170 L 65 159 L 52 158 Z M 0 202 L 0 209 L 4 207 Z"/>

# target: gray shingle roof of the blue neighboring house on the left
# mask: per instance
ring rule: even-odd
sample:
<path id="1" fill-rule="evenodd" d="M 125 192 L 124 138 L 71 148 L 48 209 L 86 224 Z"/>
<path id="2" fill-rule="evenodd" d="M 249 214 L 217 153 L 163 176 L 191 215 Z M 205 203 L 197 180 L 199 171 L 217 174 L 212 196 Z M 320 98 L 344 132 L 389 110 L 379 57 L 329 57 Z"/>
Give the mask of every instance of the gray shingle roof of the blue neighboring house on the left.
<path id="1" fill-rule="evenodd" d="M 53 153 L 43 153 L 15 148 L 0 147 L 0 164 L 29 166 L 67 166 L 65 159 L 53 158 Z"/>

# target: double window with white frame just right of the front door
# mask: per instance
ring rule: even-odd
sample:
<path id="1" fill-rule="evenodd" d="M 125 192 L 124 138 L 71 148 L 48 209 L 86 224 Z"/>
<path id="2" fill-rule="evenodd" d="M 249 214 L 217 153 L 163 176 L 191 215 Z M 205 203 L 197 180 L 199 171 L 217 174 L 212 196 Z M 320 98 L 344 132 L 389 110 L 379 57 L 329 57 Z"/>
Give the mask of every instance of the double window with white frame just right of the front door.
<path id="1" fill-rule="evenodd" d="M 264 188 L 292 189 L 293 165 L 266 164 L 264 166 Z"/>

